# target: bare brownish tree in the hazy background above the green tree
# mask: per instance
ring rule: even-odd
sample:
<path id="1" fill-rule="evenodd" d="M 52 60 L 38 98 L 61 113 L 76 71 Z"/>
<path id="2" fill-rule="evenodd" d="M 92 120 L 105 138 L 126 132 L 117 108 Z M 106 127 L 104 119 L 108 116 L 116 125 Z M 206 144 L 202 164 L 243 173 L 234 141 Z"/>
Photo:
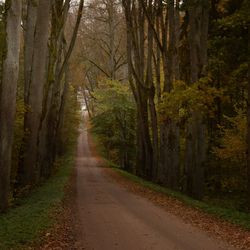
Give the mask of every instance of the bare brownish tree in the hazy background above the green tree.
<path id="1" fill-rule="evenodd" d="M 80 34 L 85 37 L 82 57 L 88 65 L 88 73 L 90 74 L 91 68 L 95 67 L 104 77 L 114 80 L 125 79 L 126 37 L 120 1 L 92 1 L 87 10 L 88 14 L 84 18 Z"/>

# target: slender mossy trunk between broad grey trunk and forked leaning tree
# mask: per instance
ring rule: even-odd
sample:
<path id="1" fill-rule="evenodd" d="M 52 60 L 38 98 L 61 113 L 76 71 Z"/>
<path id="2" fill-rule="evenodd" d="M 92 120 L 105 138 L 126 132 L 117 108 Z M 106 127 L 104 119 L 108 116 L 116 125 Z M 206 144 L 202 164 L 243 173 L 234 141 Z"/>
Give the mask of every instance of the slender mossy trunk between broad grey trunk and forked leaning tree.
<path id="1" fill-rule="evenodd" d="M 51 17 L 51 32 L 49 43 L 49 63 L 47 82 L 44 91 L 43 112 L 41 119 L 41 128 L 39 131 L 39 164 L 41 177 L 47 178 L 50 175 L 50 169 L 53 164 L 54 145 L 50 143 L 50 135 L 54 130 L 52 124 L 48 124 L 49 113 L 53 103 L 54 92 L 56 91 L 59 71 L 62 66 L 62 53 L 64 41 L 64 27 L 67 20 L 67 14 L 70 7 L 70 0 L 56 1 L 52 3 L 52 17 Z M 57 86 L 58 88 L 58 86 Z M 60 99 L 60 91 L 56 95 Z"/>

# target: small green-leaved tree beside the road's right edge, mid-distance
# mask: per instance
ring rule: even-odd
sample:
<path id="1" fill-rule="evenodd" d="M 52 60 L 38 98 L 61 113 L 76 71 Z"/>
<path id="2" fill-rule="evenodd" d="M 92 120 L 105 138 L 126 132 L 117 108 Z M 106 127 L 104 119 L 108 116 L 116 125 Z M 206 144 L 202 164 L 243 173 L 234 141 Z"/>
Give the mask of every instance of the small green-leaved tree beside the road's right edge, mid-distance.
<path id="1" fill-rule="evenodd" d="M 107 80 L 94 93 L 91 119 L 108 158 L 132 171 L 135 160 L 135 103 L 127 84 Z"/>

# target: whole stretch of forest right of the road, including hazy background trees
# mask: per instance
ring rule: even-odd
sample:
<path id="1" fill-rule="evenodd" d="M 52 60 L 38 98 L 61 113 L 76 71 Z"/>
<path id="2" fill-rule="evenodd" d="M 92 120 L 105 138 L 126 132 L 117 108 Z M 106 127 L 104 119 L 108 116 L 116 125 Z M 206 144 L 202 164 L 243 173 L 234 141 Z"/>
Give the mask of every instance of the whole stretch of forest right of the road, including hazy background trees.
<path id="1" fill-rule="evenodd" d="M 249 1 L 87 8 L 79 74 L 103 155 L 195 199 L 247 211 Z"/>

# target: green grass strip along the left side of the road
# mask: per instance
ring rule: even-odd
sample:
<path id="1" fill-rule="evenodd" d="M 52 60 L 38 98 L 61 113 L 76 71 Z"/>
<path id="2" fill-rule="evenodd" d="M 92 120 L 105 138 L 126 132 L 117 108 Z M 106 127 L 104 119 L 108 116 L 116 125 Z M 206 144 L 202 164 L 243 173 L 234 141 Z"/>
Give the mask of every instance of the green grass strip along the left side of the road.
<path id="1" fill-rule="evenodd" d="M 18 206 L 0 215 L 0 249 L 27 249 L 54 223 L 53 214 L 60 209 L 65 185 L 69 180 L 74 158 L 67 155 L 60 159 L 57 173 L 26 198 L 19 199 Z"/>

